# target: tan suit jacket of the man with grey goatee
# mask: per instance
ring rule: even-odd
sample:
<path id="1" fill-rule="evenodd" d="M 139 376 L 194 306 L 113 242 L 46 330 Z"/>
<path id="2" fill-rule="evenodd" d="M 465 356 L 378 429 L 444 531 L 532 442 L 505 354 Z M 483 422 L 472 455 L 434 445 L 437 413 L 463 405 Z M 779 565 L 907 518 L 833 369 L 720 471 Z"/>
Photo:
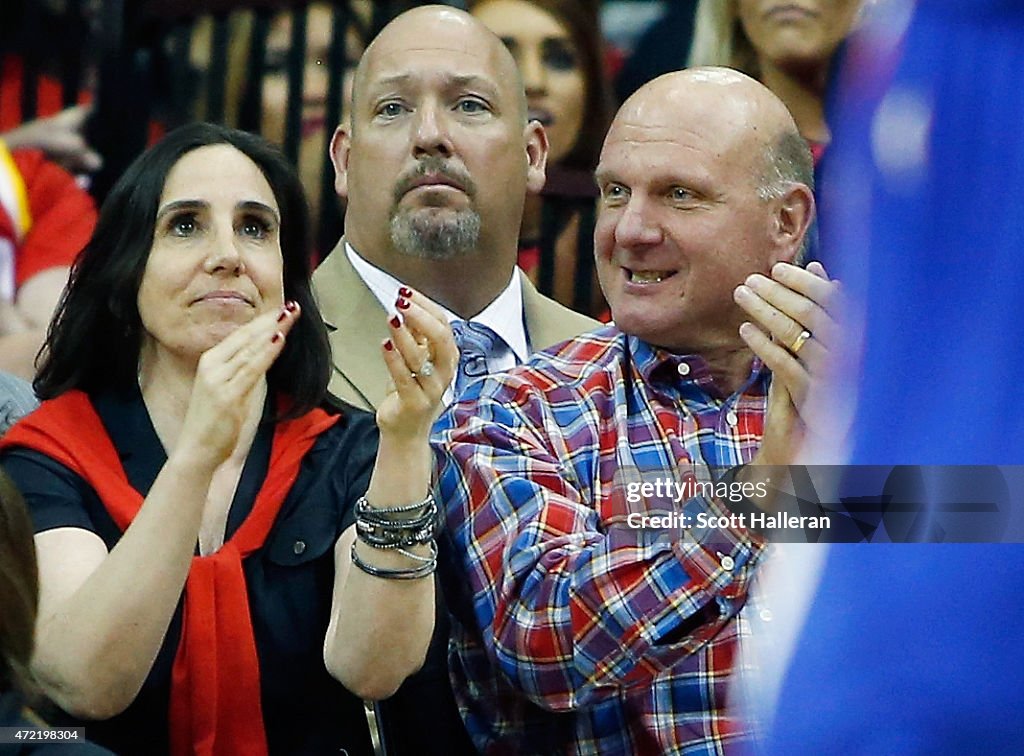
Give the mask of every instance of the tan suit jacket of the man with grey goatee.
<path id="1" fill-rule="evenodd" d="M 522 306 L 530 349 L 544 349 L 601 324 L 563 307 L 522 279 Z M 313 274 L 321 314 L 331 330 L 331 393 L 373 412 L 387 394 L 381 342 L 389 336 L 384 308 L 345 254 L 344 239 Z"/>

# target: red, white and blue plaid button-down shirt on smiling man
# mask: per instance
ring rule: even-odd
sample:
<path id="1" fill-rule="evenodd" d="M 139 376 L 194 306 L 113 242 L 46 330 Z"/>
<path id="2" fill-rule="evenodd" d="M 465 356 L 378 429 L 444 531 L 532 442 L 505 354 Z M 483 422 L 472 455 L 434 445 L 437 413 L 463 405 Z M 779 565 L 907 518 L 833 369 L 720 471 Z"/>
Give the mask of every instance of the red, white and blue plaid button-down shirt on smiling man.
<path id="1" fill-rule="evenodd" d="M 442 416 L 451 666 L 478 748 L 717 754 L 741 741 L 726 694 L 763 540 L 629 520 L 729 515 L 638 486 L 750 461 L 768 381 L 755 361 L 723 395 L 698 355 L 609 327 L 472 385 Z"/>

